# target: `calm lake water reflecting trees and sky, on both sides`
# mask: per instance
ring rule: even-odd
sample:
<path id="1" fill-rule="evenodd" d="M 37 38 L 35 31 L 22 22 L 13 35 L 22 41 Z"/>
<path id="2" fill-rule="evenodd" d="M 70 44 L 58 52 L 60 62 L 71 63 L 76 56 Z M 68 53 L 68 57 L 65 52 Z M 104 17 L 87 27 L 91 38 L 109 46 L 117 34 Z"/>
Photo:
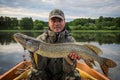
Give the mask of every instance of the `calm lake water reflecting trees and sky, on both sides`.
<path id="1" fill-rule="evenodd" d="M 22 46 L 14 42 L 13 34 L 0 32 L 0 75 L 22 61 L 22 55 L 26 55 L 26 59 L 29 59 L 29 54 L 24 51 Z M 24 34 L 37 37 L 41 33 Z M 109 69 L 109 77 L 111 80 L 120 79 L 120 33 L 79 32 L 71 35 L 75 37 L 77 42 L 90 43 L 102 49 L 102 57 L 109 58 L 117 63 L 117 67 Z M 99 65 L 96 65 L 95 69 L 101 72 Z"/>

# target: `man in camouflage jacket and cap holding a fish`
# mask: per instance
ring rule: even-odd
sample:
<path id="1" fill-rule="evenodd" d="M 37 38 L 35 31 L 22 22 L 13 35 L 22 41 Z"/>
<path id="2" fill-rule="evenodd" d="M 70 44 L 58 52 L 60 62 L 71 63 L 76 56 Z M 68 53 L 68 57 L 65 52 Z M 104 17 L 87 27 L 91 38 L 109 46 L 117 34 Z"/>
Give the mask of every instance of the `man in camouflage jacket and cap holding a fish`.
<path id="1" fill-rule="evenodd" d="M 49 14 L 49 30 L 38 36 L 47 43 L 75 42 L 65 29 L 65 17 L 63 11 L 54 9 Z M 75 53 L 70 53 L 68 58 L 73 64 L 69 64 L 63 58 L 47 58 L 36 53 L 31 53 L 33 69 L 29 80 L 80 80 L 76 68 L 76 60 L 80 59 Z"/>

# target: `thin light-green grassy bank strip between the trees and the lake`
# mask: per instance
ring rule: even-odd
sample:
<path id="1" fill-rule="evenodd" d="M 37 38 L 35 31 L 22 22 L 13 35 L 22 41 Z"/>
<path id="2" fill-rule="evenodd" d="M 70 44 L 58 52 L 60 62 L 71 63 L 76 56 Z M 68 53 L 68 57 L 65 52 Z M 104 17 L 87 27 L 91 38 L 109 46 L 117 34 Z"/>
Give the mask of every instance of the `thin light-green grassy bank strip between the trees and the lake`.
<path id="1" fill-rule="evenodd" d="M 43 32 L 43 30 L 0 30 L 0 32 Z M 72 30 L 71 32 L 120 32 L 120 30 Z"/>

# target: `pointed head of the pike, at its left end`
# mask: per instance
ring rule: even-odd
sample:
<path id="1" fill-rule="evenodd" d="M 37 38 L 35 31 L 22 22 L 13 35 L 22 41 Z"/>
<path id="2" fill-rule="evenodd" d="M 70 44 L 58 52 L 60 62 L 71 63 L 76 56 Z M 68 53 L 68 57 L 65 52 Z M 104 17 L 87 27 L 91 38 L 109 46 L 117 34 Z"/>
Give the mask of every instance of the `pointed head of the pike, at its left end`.
<path id="1" fill-rule="evenodd" d="M 13 38 L 16 42 L 20 43 L 26 50 L 31 52 L 35 52 L 40 45 L 40 41 L 21 33 L 15 33 L 13 35 Z"/>

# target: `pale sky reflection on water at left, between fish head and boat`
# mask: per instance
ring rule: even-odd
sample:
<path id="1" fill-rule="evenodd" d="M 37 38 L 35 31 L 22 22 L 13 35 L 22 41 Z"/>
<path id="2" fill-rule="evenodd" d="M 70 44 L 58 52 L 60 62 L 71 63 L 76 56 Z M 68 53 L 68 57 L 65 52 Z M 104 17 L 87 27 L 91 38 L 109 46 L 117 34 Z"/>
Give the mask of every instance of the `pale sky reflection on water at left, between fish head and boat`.
<path id="1" fill-rule="evenodd" d="M 25 51 L 20 44 L 0 45 L 0 75 L 22 61 L 23 54 Z M 25 55 L 29 59 L 29 54 Z"/>

